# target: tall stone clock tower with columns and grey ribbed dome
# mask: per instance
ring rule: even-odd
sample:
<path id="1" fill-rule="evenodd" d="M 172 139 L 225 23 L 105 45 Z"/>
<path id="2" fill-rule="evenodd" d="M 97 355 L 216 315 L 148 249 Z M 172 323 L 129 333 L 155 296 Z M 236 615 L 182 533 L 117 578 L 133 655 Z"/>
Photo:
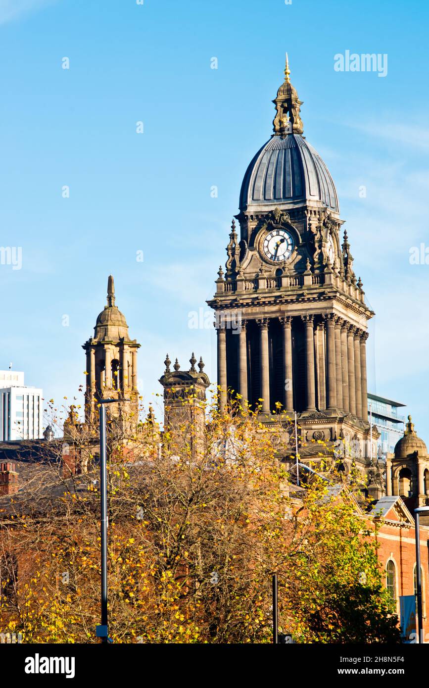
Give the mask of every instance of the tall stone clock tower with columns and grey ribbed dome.
<path id="1" fill-rule="evenodd" d="M 356 279 L 336 187 L 303 136 L 289 80 L 274 99 L 274 133 L 256 153 L 232 222 L 214 298 L 221 407 L 239 390 L 261 420 L 276 402 L 297 411 L 303 442 L 344 439 L 369 454 L 366 332 L 373 312 Z M 283 416 L 284 418 L 285 416 Z M 344 466 L 350 464 L 349 460 Z"/>

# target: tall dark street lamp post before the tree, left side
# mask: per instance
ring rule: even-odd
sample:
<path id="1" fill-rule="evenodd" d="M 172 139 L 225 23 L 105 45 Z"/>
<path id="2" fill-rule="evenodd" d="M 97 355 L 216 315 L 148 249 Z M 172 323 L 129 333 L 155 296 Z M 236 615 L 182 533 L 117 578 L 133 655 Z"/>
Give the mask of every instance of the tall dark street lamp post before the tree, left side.
<path id="1" fill-rule="evenodd" d="M 107 449 L 106 449 L 106 407 L 122 399 L 100 399 L 100 539 L 101 539 L 101 624 L 96 634 L 102 643 L 109 643 L 107 616 Z M 124 399 L 124 401 L 127 401 Z M 111 641 L 110 641 L 111 642 Z"/>

